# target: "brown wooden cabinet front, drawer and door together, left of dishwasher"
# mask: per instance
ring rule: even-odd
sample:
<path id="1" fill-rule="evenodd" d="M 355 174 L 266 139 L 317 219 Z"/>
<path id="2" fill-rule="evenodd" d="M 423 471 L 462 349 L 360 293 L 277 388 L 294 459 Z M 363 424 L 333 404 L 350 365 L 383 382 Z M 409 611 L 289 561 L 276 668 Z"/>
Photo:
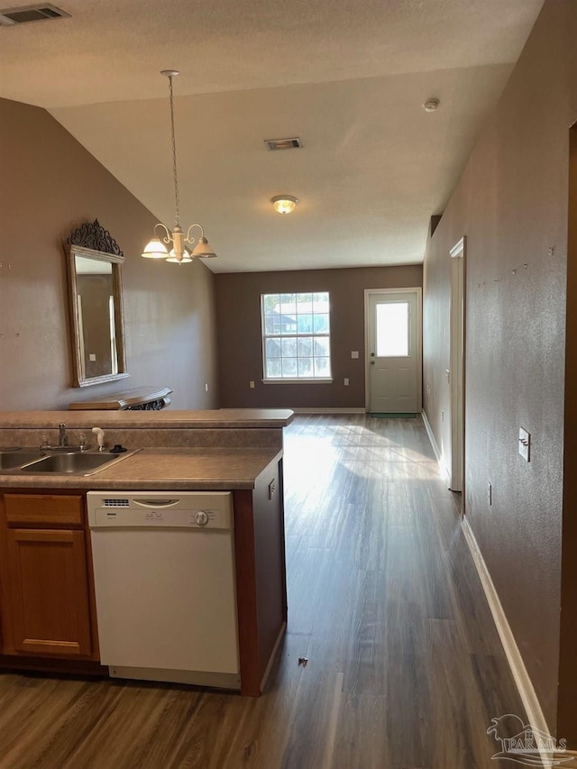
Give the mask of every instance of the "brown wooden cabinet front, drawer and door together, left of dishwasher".
<path id="1" fill-rule="evenodd" d="M 5 494 L 0 556 L 2 655 L 94 658 L 83 497 Z"/>

